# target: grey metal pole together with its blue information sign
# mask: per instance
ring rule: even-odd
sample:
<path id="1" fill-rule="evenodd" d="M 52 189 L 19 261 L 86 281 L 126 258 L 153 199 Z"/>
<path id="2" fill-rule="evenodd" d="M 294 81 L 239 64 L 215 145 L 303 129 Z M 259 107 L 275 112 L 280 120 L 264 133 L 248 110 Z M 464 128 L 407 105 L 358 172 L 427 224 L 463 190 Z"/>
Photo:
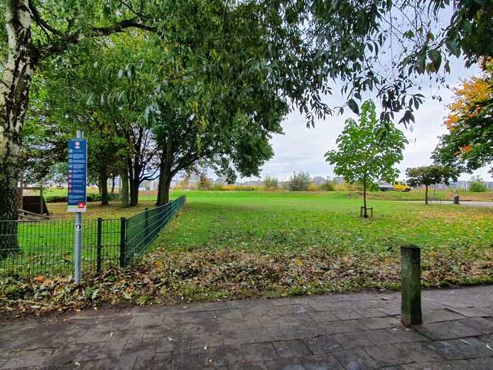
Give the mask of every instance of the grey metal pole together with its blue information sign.
<path id="1" fill-rule="evenodd" d="M 86 211 L 87 141 L 82 131 L 68 141 L 68 212 L 75 212 L 75 285 L 82 277 L 82 212 Z"/>

